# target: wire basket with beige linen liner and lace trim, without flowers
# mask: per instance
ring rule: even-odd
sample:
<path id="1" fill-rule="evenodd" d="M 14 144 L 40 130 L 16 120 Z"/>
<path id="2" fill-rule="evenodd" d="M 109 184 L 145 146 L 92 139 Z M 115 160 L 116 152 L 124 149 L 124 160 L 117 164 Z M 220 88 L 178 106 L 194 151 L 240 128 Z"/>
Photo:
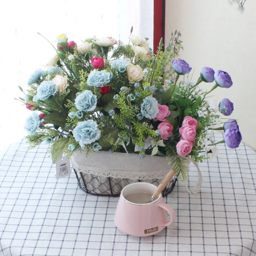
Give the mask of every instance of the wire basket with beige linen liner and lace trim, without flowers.
<path id="1" fill-rule="evenodd" d="M 86 155 L 76 152 L 71 158 L 79 187 L 88 194 L 118 196 L 122 188 L 134 182 L 149 182 L 156 186 L 172 169 L 163 156 L 146 155 L 140 159 L 133 153 L 110 153 L 98 151 Z M 174 177 L 163 191 L 170 194 L 177 179 Z"/>

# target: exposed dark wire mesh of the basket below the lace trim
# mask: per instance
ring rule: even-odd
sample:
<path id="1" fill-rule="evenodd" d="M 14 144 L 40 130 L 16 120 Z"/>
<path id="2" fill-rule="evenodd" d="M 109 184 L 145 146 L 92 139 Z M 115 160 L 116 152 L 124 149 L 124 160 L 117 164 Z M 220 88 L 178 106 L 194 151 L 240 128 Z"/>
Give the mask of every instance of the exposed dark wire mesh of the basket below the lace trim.
<path id="1" fill-rule="evenodd" d="M 101 175 L 77 172 L 75 169 L 73 170 L 76 174 L 79 188 L 81 188 L 87 194 L 97 195 L 97 196 L 119 196 L 122 188 L 134 182 L 148 182 L 158 186 L 162 181 L 162 179 L 131 180 L 131 179 L 104 177 Z M 172 192 L 176 181 L 177 179 L 173 178 L 168 183 L 168 185 L 164 188 L 162 192 L 163 196 L 167 196 Z"/>

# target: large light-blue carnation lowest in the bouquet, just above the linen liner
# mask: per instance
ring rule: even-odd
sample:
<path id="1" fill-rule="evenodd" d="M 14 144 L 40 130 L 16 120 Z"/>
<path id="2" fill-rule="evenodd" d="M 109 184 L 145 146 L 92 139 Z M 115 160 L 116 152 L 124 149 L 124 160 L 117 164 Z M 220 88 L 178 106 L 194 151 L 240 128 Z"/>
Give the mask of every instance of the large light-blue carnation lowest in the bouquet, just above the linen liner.
<path id="1" fill-rule="evenodd" d="M 100 139 L 100 129 L 97 123 L 90 119 L 84 122 L 78 122 L 73 130 L 73 135 L 75 140 L 79 142 L 79 145 L 84 148 L 85 145 Z"/>

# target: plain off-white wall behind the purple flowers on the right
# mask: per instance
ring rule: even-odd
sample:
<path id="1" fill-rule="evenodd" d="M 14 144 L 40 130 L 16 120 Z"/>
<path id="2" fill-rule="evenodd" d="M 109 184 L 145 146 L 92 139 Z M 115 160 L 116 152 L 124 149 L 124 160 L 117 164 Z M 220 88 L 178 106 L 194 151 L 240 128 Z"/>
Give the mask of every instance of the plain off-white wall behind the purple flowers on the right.
<path id="1" fill-rule="evenodd" d="M 228 0 L 166 0 L 165 39 L 175 29 L 181 32 L 180 58 L 193 68 L 192 80 L 205 66 L 229 73 L 233 86 L 212 95 L 234 103 L 230 118 L 238 121 L 243 142 L 256 150 L 256 1 L 246 1 L 244 8 L 241 13 Z"/>

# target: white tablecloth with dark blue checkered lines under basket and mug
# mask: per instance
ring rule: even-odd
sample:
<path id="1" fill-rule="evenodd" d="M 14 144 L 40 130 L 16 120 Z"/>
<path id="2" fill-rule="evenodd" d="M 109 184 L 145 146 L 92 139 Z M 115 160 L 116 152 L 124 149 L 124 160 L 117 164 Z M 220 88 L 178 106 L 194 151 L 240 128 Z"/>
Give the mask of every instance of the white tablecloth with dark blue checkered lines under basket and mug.
<path id="1" fill-rule="evenodd" d="M 0 255 L 256 255 L 256 153 L 218 148 L 216 160 L 200 164 L 199 193 L 178 182 L 164 198 L 174 223 L 133 237 L 115 227 L 117 197 L 85 194 L 74 172 L 56 180 L 47 145 L 28 151 L 20 140 L 0 153 Z M 191 166 L 188 186 L 196 180 Z"/>

